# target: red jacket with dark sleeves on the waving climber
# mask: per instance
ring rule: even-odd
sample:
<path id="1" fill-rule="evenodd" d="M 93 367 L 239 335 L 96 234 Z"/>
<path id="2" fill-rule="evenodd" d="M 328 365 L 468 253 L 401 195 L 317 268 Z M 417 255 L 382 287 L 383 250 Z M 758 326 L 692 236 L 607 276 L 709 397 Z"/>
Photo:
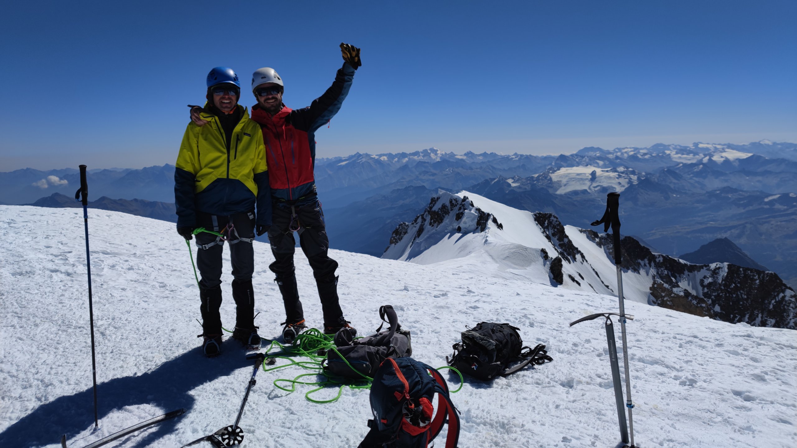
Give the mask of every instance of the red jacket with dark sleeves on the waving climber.
<path id="1" fill-rule="evenodd" d="M 274 116 L 269 116 L 259 104 L 252 108 L 252 120 L 259 123 L 263 131 L 272 198 L 284 202 L 315 198 L 315 132 L 340 110 L 354 80 L 354 72 L 355 69 L 344 62 L 332 86 L 307 108 L 292 110 L 283 104 Z"/>

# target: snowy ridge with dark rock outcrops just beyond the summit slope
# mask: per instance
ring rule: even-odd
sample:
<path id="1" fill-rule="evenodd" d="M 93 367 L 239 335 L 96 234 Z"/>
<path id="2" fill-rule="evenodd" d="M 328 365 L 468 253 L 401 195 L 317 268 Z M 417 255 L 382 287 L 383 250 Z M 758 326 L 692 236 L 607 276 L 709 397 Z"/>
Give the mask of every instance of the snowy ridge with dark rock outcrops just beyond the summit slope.
<path id="1" fill-rule="evenodd" d="M 693 265 L 622 239 L 626 300 L 731 323 L 795 328 L 797 294 L 775 273 L 728 263 Z M 391 235 L 383 258 L 522 277 L 577 291 L 616 294 L 609 234 L 563 226 L 462 191 L 440 191 L 412 222 Z"/>

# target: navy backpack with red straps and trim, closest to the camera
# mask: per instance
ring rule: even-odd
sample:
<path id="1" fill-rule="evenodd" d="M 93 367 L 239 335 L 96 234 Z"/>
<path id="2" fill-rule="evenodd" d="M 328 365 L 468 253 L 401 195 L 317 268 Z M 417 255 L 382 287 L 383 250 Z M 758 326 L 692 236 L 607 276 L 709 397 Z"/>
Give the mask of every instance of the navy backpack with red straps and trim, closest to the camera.
<path id="1" fill-rule="evenodd" d="M 446 448 L 457 448 L 458 411 L 436 369 L 412 358 L 388 358 L 374 375 L 370 399 L 374 419 L 368 420 L 371 430 L 358 448 L 426 448 L 446 422 Z"/>

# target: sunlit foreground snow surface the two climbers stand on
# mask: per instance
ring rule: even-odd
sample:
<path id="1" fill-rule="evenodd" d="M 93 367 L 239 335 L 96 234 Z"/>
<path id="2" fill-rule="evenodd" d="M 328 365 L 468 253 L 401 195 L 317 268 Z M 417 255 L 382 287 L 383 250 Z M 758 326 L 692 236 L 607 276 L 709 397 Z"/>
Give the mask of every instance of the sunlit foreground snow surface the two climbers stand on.
<path id="1" fill-rule="evenodd" d="M 174 226 L 89 214 L 100 431 L 92 433 L 82 210 L 0 206 L 0 446 L 56 447 L 62 433 L 70 447 L 84 446 L 178 407 L 188 413 L 116 446 L 176 447 L 232 424 L 251 366 L 231 340 L 218 358 L 199 351 L 198 293 Z M 255 245 L 257 324 L 262 335 L 276 336 L 283 312 L 268 269 L 272 257 L 268 246 Z M 616 298 L 494 277 L 489 258 L 453 269 L 336 250 L 332 257 L 340 262 L 347 318 L 368 332 L 379 324 L 379 305 L 394 305 L 413 332 L 418 360 L 444 365 L 465 324 L 481 320 L 507 321 L 521 328 L 526 344 L 548 345 L 552 363 L 493 383 L 468 380 L 453 394 L 463 448 L 618 442 L 603 325 L 567 326 L 591 312 L 616 311 Z M 222 317 L 232 325 L 226 266 Z M 296 267 L 306 316 L 320 324 L 301 256 Z M 636 316 L 628 330 L 639 446 L 795 446 L 797 333 L 634 302 L 626 310 Z M 306 388 L 288 394 L 273 387 L 273 379 L 300 372 L 258 374 L 241 419 L 242 446 L 357 446 L 371 417 L 367 391 L 316 405 L 304 400 Z"/>

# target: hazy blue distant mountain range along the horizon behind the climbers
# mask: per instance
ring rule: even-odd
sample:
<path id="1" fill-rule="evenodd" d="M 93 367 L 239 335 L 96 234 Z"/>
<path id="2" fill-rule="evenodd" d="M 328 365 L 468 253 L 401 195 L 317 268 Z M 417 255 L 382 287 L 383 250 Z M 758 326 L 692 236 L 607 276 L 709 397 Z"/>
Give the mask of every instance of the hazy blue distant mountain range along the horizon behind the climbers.
<path id="1" fill-rule="evenodd" d="M 89 171 L 89 198 L 174 201 L 174 167 Z M 77 170 L 0 173 L 0 202 L 72 196 Z M 655 144 L 570 155 L 457 155 L 436 148 L 316 160 L 332 247 L 383 253 L 391 231 L 439 189 L 467 190 L 585 226 L 622 193 L 626 234 L 672 256 L 730 238 L 797 285 L 797 144 Z"/>

